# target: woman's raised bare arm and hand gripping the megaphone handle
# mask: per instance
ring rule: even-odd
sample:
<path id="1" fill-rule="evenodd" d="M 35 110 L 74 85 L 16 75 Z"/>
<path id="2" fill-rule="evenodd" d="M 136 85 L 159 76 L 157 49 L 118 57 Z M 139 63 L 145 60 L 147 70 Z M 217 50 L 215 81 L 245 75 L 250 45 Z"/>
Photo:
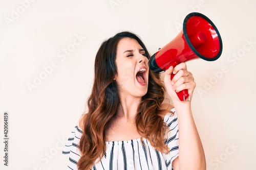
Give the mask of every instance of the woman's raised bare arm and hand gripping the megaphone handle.
<path id="1" fill-rule="evenodd" d="M 176 75 L 171 81 L 172 72 Z M 173 167 L 175 170 L 205 170 L 204 150 L 191 111 L 191 99 L 196 83 L 192 74 L 186 70 L 186 64 L 181 63 L 175 68 L 169 67 L 165 71 L 164 84 L 173 100 L 179 125 L 179 157 L 174 160 Z M 190 101 L 180 101 L 175 92 L 184 89 L 188 90 Z"/>

